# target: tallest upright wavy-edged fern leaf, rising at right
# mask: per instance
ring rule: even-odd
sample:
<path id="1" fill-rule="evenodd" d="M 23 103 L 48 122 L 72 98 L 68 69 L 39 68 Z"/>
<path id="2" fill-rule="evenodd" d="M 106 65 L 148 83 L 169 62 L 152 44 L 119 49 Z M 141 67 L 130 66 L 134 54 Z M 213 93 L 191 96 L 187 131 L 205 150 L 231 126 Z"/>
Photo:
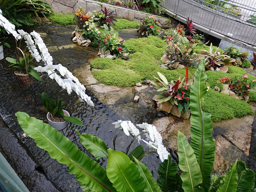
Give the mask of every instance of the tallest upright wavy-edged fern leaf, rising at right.
<path id="1" fill-rule="evenodd" d="M 195 72 L 194 84 L 190 89 L 190 110 L 191 110 L 191 147 L 196 155 L 202 173 L 201 187 L 204 191 L 210 188 L 210 175 L 214 164 L 215 142 L 212 137 L 212 120 L 209 113 L 202 111 L 202 98 L 206 94 L 207 79 L 204 74 L 204 58 L 201 59 L 200 65 Z"/>

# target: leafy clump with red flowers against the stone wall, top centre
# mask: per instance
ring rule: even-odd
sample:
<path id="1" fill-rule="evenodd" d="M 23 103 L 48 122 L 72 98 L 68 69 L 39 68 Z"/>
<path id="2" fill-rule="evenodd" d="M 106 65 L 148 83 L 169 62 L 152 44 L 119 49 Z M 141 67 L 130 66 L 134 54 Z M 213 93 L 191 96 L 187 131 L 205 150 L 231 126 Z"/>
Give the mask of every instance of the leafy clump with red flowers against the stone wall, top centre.
<path id="1" fill-rule="evenodd" d="M 158 21 L 155 21 L 154 16 L 152 17 L 146 17 L 144 20 L 141 22 L 141 24 L 138 23 L 138 32 L 142 36 L 150 36 L 150 35 L 157 35 L 160 33 L 160 28 L 156 25 Z"/>

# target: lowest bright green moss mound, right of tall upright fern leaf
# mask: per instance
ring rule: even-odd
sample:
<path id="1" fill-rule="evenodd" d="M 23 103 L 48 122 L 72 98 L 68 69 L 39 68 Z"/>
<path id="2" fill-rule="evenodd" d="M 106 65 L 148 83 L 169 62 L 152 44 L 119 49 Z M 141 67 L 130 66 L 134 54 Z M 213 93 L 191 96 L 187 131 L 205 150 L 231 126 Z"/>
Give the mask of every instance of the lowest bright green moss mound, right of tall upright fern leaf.
<path id="1" fill-rule="evenodd" d="M 254 114 L 252 107 L 245 101 L 238 100 L 212 89 L 209 89 L 204 97 L 204 101 L 202 103 L 202 110 L 212 115 L 213 122 Z"/>

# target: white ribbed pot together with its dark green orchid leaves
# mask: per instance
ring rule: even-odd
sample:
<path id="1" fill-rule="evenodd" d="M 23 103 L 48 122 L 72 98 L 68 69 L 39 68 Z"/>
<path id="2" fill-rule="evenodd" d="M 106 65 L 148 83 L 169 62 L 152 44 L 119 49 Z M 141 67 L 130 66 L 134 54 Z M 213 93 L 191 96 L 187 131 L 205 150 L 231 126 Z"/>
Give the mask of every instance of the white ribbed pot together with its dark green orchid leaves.
<path id="1" fill-rule="evenodd" d="M 63 109 L 64 102 L 62 100 L 58 98 L 56 98 L 56 100 L 52 100 L 45 92 L 42 93 L 41 97 L 44 107 L 49 111 L 47 113 L 47 120 L 50 126 L 60 131 L 67 126 L 68 122 L 74 123 L 78 126 L 83 125 L 80 118 L 70 117 L 70 114 Z"/>

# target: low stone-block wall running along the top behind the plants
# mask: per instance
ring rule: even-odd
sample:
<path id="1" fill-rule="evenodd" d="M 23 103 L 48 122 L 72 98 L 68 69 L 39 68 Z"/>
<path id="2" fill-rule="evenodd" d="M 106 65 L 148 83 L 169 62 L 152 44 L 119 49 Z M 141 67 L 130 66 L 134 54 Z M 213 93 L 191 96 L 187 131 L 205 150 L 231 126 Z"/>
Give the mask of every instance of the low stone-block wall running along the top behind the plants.
<path id="1" fill-rule="evenodd" d="M 50 4 L 52 6 L 52 10 L 56 14 L 72 14 L 78 10 L 78 7 L 86 10 L 86 12 L 93 10 L 97 10 L 98 12 L 104 10 L 104 6 L 114 11 L 114 14 L 117 18 L 124 18 L 129 21 L 142 21 L 146 16 L 152 16 L 152 14 L 147 14 L 144 12 L 140 12 L 137 10 L 132 10 L 120 6 L 110 5 L 103 2 L 98 2 L 94 0 L 43 0 L 44 2 Z M 169 27 L 169 20 L 166 18 L 161 18 L 156 16 L 156 21 L 159 21 L 158 26 L 161 28 Z"/>

